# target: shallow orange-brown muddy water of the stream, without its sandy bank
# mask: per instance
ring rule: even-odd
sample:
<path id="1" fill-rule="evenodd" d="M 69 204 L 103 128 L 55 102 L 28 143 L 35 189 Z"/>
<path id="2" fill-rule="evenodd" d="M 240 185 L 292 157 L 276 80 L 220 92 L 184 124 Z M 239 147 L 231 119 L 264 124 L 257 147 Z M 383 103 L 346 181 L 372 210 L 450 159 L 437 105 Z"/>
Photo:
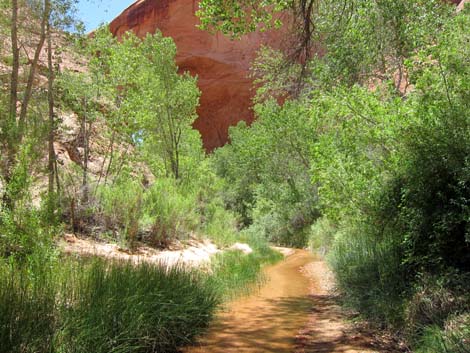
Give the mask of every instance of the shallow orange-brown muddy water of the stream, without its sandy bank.
<path id="1" fill-rule="evenodd" d="M 300 268 L 312 260 L 308 251 L 297 250 L 266 268 L 267 282 L 259 292 L 230 303 L 208 334 L 185 353 L 291 353 L 312 304 L 309 280 Z"/>

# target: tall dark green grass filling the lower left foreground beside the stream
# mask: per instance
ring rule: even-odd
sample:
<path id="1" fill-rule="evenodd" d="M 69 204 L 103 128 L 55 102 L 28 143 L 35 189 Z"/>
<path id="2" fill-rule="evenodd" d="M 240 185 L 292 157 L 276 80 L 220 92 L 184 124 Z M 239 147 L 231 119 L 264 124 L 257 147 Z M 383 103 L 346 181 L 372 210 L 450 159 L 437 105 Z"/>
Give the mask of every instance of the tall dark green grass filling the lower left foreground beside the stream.
<path id="1" fill-rule="evenodd" d="M 180 266 L 63 260 L 2 265 L 0 352 L 176 352 L 219 302 L 200 272 Z"/>

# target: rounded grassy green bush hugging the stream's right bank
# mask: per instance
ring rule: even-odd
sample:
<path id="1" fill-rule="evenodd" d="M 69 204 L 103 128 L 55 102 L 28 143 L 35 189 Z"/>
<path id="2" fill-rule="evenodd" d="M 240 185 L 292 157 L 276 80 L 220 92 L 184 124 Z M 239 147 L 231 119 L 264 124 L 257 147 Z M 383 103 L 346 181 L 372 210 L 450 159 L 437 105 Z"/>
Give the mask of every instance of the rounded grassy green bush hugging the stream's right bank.
<path id="1" fill-rule="evenodd" d="M 379 325 L 402 323 L 406 296 L 400 243 L 379 237 L 367 225 L 338 233 L 328 261 L 346 304 Z"/>

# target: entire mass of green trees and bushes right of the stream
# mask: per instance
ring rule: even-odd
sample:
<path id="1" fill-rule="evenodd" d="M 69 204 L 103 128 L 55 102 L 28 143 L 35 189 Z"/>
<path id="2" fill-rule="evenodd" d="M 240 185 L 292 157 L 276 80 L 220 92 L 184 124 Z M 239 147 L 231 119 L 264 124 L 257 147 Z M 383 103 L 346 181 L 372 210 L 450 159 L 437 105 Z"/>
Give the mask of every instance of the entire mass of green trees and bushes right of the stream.
<path id="1" fill-rule="evenodd" d="M 270 240 L 308 237 L 344 304 L 413 349 L 468 352 L 468 6 L 235 3 L 203 1 L 203 27 L 269 28 L 270 5 L 297 41 L 260 52 L 257 120 L 215 153 L 227 205 Z"/>

